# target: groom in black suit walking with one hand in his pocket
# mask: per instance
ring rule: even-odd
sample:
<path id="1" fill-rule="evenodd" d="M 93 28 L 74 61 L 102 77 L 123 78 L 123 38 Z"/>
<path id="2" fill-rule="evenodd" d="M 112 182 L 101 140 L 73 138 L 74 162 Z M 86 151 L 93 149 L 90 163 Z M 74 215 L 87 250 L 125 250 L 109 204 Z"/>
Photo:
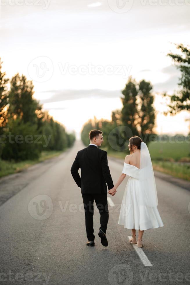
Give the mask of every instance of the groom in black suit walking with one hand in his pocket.
<path id="1" fill-rule="evenodd" d="M 94 246 L 93 214 L 94 200 L 100 213 L 100 228 L 98 236 L 103 246 L 107 246 L 106 229 L 109 218 L 107 206 L 108 189 L 114 187 L 110 169 L 107 165 L 107 152 L 99 149 L 103 143 L 102 131 L 92 130 L 89 132 L 90 144 L 78 151 L 75 161 L 71 166 L 71 174 L 81 188 L 85 209 L 85 225 L 88 241 L 86 245 Z M 81 169 L 81 177 L 78 169 Z M 106 186 L 107 183 L 107 186 Z M 112 193 L 112 196 L 114 196 Z"/>

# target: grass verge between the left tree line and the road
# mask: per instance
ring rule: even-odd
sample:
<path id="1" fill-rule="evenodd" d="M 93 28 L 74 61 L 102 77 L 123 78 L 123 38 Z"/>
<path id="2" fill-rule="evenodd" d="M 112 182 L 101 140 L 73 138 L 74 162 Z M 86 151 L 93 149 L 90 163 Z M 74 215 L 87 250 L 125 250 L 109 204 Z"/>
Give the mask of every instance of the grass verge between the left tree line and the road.
<path id="1" fill-rule="evenodd" d="M 21 172 L 33 164 L 44 161 L 48 158 L 52 158 L 54 156 L 58 156 L 61 153 L 62 151 L 43 151 L 38 160 L 25 160 L 17 163 L 15 161 L 4 161 L 0 159 L 0 177 L 16 172 Z"/>

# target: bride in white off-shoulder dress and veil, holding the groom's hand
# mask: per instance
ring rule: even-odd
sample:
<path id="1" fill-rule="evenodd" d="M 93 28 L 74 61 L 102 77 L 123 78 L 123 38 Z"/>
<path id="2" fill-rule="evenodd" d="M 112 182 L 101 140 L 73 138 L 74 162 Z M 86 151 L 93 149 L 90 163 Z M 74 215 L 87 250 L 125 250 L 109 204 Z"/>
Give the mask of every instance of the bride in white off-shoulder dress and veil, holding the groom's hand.
<path id="1" fill-rule="evenodd" d="M 148 147 L 138 136 L 132 136 L 129 139 L 128 147 L 130 154 L 125 158 L 122 173 L 114 188 L 108 193 L 115 195 L 116 188 L 126 174 L 130 176 L 124 191 L 118 224 L 132 229 L 130 242 L 142 247 L 144 230 L 164 225 L 157 209 L 157 190 Z M 136 229 L 139 230 L 138 240 Z"/>

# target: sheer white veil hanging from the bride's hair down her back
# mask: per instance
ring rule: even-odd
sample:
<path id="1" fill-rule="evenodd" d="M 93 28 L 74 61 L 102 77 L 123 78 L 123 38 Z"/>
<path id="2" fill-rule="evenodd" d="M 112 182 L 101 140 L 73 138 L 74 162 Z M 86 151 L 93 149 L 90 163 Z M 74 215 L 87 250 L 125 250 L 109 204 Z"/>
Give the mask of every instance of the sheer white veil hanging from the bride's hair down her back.
<path id="1" fill-rule="evenodd" d="M 158 197 L 156 190 L 155 177 L 153 172 L 152 161 L 146 143 L 141 142 L 140 155 L 140 187 L 141 187 L 141 204 L 148 207 L 158 206 Z"/>

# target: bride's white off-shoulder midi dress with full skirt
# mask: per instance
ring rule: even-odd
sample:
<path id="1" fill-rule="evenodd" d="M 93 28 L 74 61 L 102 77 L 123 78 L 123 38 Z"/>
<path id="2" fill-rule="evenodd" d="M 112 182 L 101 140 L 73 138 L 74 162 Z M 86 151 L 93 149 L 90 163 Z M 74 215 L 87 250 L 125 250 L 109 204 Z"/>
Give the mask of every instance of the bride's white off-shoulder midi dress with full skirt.
<path id="1" fill-rule="evenodd" d="M 127 229 L 141 231 L 163 227 L 157 206 L 148 207 L 141 203 L 143 193 L 140 188 L 139 172 L 140 169 L 136 166 L 125 163 L 125 174 L 130 177 L 124 191 L 118 224 Z"/>

